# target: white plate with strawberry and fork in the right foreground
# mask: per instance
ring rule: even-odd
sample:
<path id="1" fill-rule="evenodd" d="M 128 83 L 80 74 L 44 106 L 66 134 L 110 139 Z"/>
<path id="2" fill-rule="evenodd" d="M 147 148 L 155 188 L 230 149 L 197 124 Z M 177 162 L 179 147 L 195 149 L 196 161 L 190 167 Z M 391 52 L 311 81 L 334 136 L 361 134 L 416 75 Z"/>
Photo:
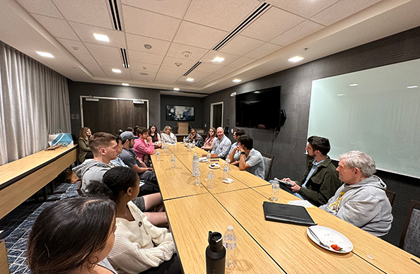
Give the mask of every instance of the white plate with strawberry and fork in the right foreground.
<path id="1" fill-rule="evenodd" d="M 321 225 L 313 225 L 312 227 L 310 227 L 310 230 L 312 230 L 315 233 L 315 235 L 317 235 L 318 239 L 320 239 L 321 242 L 329 246 L 329 248 L 327 249 L 324 246 L 320 245 L 320 243 L 317 241 L 317 239 L 315 239 L 315 237 L 313 237 L 309 230 L 306 230 L 306 234 L 308 234 L 310 239 L 313 240 L 315 244 L 321 246 L 324 249 L 337 253 L 349 253 L 353 250 L 353 244 L 351 244 L 350 240 L 340 232 L 332 230 L 329 227 L 322 227 Z M 337 246 L 342 248 L 342 251 L 335 251 L 334 249 L 332 249 L 332 244 L 337 244 Z"/>

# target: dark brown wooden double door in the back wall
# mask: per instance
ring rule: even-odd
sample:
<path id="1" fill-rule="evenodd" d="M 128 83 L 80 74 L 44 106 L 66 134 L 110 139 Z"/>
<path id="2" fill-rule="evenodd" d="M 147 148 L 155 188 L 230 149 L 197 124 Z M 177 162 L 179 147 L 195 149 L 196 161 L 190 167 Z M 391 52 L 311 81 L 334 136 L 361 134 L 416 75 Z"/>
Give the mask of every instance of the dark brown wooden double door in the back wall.
<path id="1" fill-rule="evenodd" d="M 92 133 L 107 132 L 116 134 L 129 126 L 148 126 L 147 101 L 134 104 L 132 100 L 103 99 L 86 101 L 82 98 L 83 126 Z"/>

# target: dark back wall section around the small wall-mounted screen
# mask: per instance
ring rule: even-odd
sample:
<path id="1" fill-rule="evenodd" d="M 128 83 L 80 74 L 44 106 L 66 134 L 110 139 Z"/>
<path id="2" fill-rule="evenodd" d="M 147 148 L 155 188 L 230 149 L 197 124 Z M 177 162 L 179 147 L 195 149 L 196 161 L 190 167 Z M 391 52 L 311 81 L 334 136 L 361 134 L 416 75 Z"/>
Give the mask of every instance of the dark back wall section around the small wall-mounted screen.
<path id="1" fill-rule="evenodd" d="M 161 95 L 161 130 L 163 130 L 165 126 L 173 127 L 177 125 L 177 121 L 166 120 L 166 105 L 195 107 L 195 120 L 187 122 L 195 129 L 204 129 L 204 102 L 202 98 Z"/>

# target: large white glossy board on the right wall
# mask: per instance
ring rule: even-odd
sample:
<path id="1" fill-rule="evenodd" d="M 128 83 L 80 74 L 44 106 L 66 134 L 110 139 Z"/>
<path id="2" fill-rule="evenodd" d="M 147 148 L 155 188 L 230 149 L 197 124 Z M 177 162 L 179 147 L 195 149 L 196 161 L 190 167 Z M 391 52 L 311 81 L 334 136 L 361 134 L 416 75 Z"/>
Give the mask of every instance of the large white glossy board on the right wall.
<path id="1" fill-rule="evenodd" d="M 329 157 L 350 150 L 377 169 L 420 178 L 420 59 L 313 81 L 308 136 L 329 138 Z"/>

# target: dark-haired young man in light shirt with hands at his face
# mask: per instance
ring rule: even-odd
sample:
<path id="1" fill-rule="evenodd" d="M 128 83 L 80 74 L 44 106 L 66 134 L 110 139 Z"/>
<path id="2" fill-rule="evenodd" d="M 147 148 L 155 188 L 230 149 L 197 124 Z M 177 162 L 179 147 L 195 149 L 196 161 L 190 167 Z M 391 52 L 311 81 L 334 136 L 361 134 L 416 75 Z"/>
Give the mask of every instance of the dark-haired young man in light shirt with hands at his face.
<path id="1" fill-rule="evenodd" d="M 253 148 L 254 141 L 250 136 L 238 138 L 238 145 L 229 154 L 231 162 L 238 161 L 240 170 L 247 170 L 255 176 L 264 179 L 264 160 L 258 150 Z"/>

